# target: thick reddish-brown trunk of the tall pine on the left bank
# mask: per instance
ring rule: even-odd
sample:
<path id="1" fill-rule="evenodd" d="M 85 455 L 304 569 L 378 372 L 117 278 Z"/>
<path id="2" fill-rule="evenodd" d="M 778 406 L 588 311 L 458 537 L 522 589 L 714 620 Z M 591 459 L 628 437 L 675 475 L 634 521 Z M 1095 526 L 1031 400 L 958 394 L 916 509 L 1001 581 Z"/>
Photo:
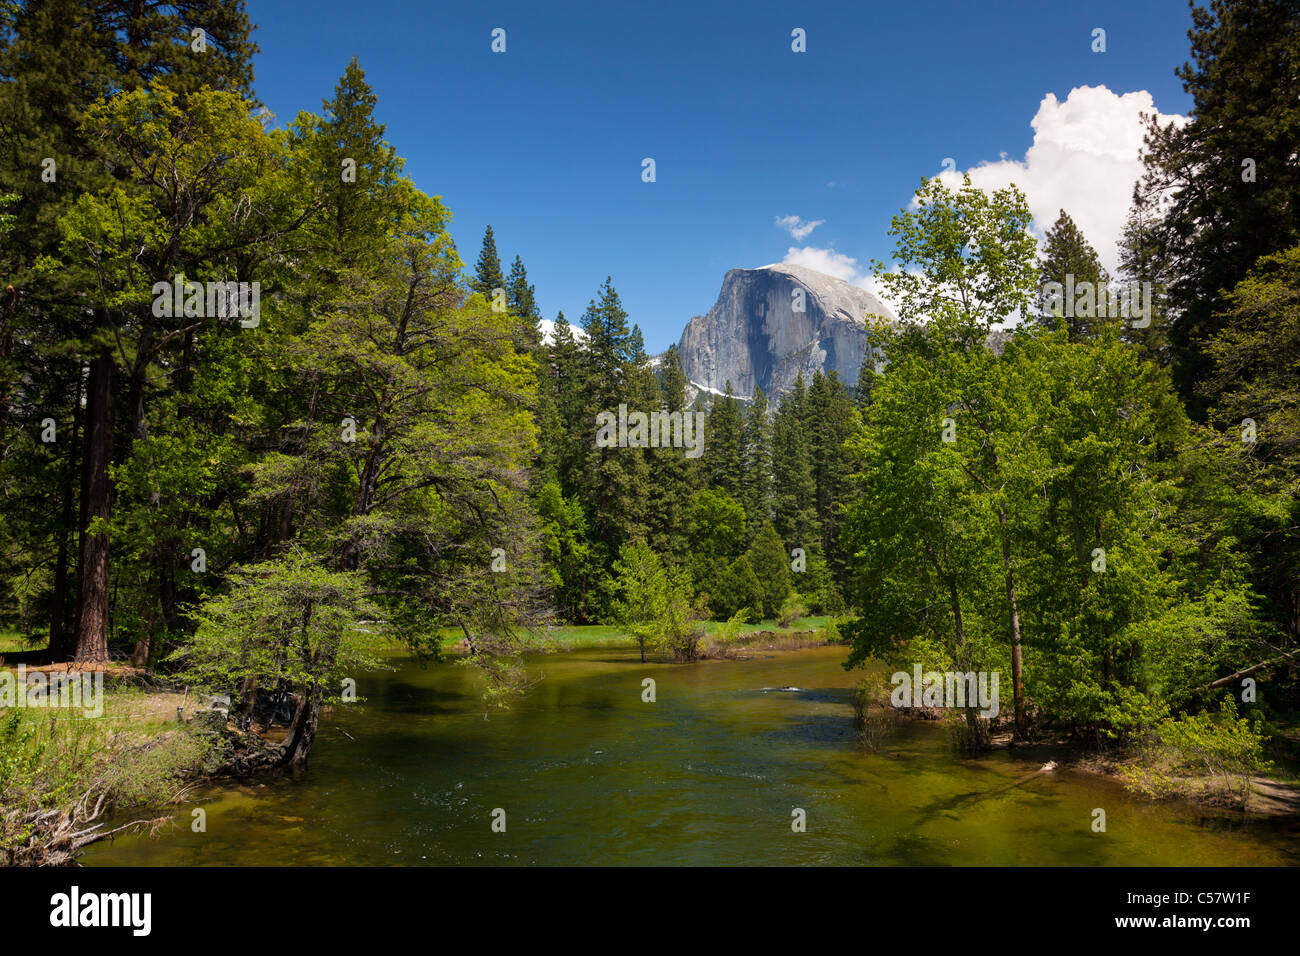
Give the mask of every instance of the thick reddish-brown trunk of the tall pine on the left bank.
<path id="1" fill-rule="evenodd" d="M 90 533 L 109 518 L 108 464 L 113 457 L 113 356 L 105 349 L 90 365 L 86 450 L 82 455 L 81 548 L 77 566 L 77 663 L 108 662 L 108 532 Z"/>

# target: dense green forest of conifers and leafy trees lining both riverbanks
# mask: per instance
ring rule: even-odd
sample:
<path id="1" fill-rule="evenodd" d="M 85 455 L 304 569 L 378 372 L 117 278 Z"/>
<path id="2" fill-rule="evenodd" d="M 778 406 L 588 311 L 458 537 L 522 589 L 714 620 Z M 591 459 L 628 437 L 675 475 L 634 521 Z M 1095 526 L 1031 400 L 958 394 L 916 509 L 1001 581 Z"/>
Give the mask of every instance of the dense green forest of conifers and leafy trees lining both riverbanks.
<path id="1" fill-rule="evenodd" d="M 599 264 L 543 336 L 521 258 L 491 228 L 458 248 L 361 65 L 277 120 L 251 29 L 0 3 L 10 663 L 290 700 L 286 765 L 387 648 L 463 640 L 508 705 L 547 627 L 690 662 L 707 622 L 815 614 L 850 669 L 1000 672 L 1017 740 L 1262 766 L 1300 705 L 1294 3 L 1193 9 L 1195 109 L 1149 125 L 1121 274 L 1069 209 L 1039 242 L 1018 189 L 922 179 L 874 264 L 898 321 L 855 384 L 779 397 L 697 394 Z M 698 454 L 598 441 L 620 406 L 705 414 Z M 0 715 L 6 805 L 61 799 L 31 732 Z"/>

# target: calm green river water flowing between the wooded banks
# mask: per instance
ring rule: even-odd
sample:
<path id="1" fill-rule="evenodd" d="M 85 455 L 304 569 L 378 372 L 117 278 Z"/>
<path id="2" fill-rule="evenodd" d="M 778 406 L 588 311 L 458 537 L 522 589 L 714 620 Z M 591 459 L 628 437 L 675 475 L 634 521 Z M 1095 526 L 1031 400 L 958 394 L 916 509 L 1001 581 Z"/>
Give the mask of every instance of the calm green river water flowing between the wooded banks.
<path id="1" fill-rule="evenodd" d="M 842 648 L 690 666 L 632 650 L 538 657 L 484 719 L 474 675 L 403 665 L 321 719 L 311 766 L 195 795 L 157 838 L 87 865 L 924 864 L 1295 865 L 1300 825 L 1150 804 L 1006 753 L 959 760 L 904 722 L 858 749 Z M 658 700 L 642 702 L 642 678 Z M 798 692 L 763 691 L 793 685 Z M 190 810 L 207 810 L 207 831 Z M 493 832 L 495 808 L 506 832 Z M 792 810 L 806 832 L 792 831 Z M 1106 832 L 1092 832 L 1093 809 Z"/>

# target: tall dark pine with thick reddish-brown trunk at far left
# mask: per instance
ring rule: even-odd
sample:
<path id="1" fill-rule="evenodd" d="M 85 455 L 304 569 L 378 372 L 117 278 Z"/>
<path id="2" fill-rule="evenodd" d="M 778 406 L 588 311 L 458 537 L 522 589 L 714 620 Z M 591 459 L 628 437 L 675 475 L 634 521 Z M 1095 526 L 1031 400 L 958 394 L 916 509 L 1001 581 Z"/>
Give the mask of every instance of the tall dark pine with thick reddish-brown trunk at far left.
<path id="1" fill-rule="evenodd" d="M 142 7 L 129 0 L 75 3 L 49 0 L 13 5 L 6 12 L 0 46 L 0 194 L 17 194 L 14 230 L 9 237 L 18 251 L 6 285 L 13 287 L 5 315 L 4 337 L 21 342 L 17 368 L 35 386 L 25 386 L 25 407 L 0 410 L 6 427 L 35 414 L 53 418 L 61 433 L 77 440 L 58 442 L 62 457 L 61 492 L 49 496 L 46 527 L 55 542 L 49 604 L 51 654 L 62 659 L 75 636 L 77 657 L 105 661 L 109 600 L 109 550 L 104 535 L 86 535 L 94 518 L 110 515 L 112 484 L 108 468 L 121 462 L 139 415 L 139 375 L 124 381 L 114 369 L 110 341 L 114 329 L 105 310 L 69 308 L 95 287 L 95 271 L 65 261 L 58 269 L 36 269 L 43 258 L 60 256 L 62 230 L 57 221 L 83 195 L 109 182 L 101 150 L 105 140 L 79 131 L 87 111 L 114 92 L 157 83 L 185 98 L 202 87 L 248 94 L 252 82 L 251 25 L 243 3 L 195 0 L 187 4 Z M 207 48 L 191 51 L 191 30 L 203 27 Z M 46 160 L 55 165 L 47 166 Z M 121 170 L 121 166 L 118 166 Z M 53 179 L 46 173 L 53 174 Z M 147 352 L 147 350 L 146 350 Z M 134 363 L 139 367 L 142 363 Z M 90 388 L 83 388 L 86 372 Z M 0 365 L 0 376 L 14 373 Z M 0 380 L 3 381 L 3 380 Z M 121 393 L 126 393 L 125 395 Z M 9 406 L 16 392 L 0 385 Z M 121 429 L 114 405 L 130 428 Z M 122 433 L 116 436 L 114 432 Z M 48 454 L 42 449 L 42 454 Z M 81 472 L 78 483 L 73 476 Z M 72 496 L 81 485 L 79 501 Z M 73 525 L 82 549 L 73 587 L 66 563 Z M 44 546 L 31 541 L 35 553 Z M 9 549 L 0 549 L 9 551 Z M 77 593 L 72 614 L 73 591 Z M 75 635 L 73 633 L 75 632 Z"/>

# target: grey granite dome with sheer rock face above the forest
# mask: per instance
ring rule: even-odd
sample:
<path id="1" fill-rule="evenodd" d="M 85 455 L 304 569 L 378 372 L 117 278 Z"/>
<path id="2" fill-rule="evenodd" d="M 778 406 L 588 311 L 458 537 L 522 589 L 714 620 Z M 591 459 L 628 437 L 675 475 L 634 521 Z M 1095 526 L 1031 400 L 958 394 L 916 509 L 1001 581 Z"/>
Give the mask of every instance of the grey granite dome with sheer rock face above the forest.
<path id="1" fill-rule="evenodd" d="M 800 372 L 811 380 L 835 369 L 853 385 L 866 354 L 867 313 L 893 321 L 867 290 L 814 269 L 784 263 L 732 269 L 708 315 L 681 333 L 682 369 L 698 390 L 722 394 L 731 381 L 746 399 L 755 385 L 770 401 L 779 398 Z"/>

